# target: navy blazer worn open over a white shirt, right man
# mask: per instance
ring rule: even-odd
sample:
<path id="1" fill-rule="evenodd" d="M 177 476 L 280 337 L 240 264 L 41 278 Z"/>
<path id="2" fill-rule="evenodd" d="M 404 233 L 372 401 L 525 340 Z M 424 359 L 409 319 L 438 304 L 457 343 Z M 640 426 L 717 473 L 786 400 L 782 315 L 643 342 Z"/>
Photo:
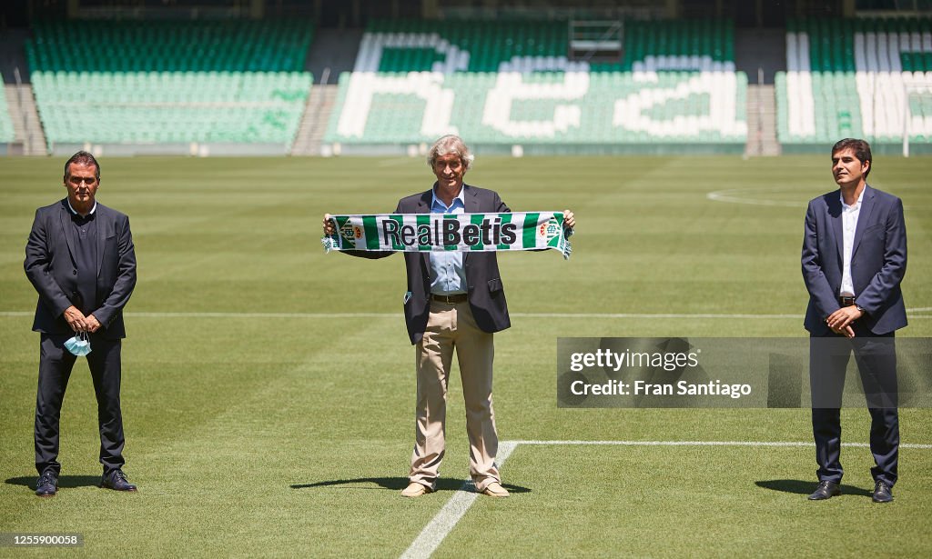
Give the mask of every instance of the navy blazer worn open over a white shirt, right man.
<path id="1" fill-rule="evenodd" d="M 841 308 L 842 223 L 840 191 L 809 202 L 802 239 L 802 278 L 809 290 L 804 326 L 816 336 L 831 331 L 825 319 Z M 899 288 L 905 273 L 903 203 L 892 194 L 865 186 L 851 251 L 851 279 L 857 305 L 866 312 L 858 322 L 870 332 L 886 334 L 906 326 Z"/>

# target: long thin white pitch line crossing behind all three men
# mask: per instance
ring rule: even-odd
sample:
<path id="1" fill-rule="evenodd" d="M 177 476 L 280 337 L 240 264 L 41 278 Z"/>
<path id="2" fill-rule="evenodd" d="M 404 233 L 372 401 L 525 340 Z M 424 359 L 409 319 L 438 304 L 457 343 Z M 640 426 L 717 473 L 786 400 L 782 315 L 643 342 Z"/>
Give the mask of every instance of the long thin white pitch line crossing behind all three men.
<path id="1" fill-rule="evenodd" d="M 929 308 L 908 309 L 908 313 L 925 313 Z M 33 311 L 0 311 L 0 316 L 33 316 Z M 400 313 L 124 313 L 130 318 L 396 318 Z M 515 318 L 723 318 L 723 319 L 798 319 L 799 314 L 714 314 L 714 313 L 511 313 Z M 910 318 L 932 318 L 932 314 L 910 314 Z"/>

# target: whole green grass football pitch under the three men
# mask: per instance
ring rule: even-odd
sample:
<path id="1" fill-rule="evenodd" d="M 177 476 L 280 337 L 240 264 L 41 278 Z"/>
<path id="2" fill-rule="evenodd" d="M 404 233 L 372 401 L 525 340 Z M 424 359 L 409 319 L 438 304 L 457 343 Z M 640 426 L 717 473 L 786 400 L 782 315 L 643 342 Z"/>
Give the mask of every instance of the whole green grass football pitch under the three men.
<path id="1" fill-rule="evenodd" d="M 122 394 L 126 472 L 140 491 L 96 487 L 93 391 L 78 363 L 62 414 L 62 488 L 37 499 L 38 335 L 22 260 L 34 208 L 64 195 L 62 164 L 0 159 L 0 532 L 79 532 L 74 552 L 87 556 L 404 552 L 468 476 L 458 373 L 440 490 L 403 499 L 415 379 L 402 259 L 324 255 L 319 239 L 324 212 L 391 211 L 425 190 L 424 162 L 104 157 L 98 199 L 130 215 L 139 260 Z M 879 157 L 871 174 L 907 207 L 906 337 L 932 336 L 930 171 L 929 159 Z M 526 313 L 496 336 L 502 440 L 811 440 L 807 409 L 557 408 L 555 353 L 571 336 L 804 336 L 802 220 L 806 201 L 833 187 L 828 153 L 479 153 L 467 180 L 514 210 L 569 207 L 578 220 L 569 261 L 500 256 L 510 310 Z M 720 191 L 732 201 L 707 196 Z M 904 443 L 932 443 L 930 410 L 903 409 L 900 421 Z M 845 442 L 866 443 L 866 410 L 845 410 L 843 430 Z M 870 501 L 870 451 L 846 447 L 843 464 L 843 497 L 809 502 L 811 447 L 518 446 L 502 466 L 513 498 L 477 499 L 435 556 L 932 554 L 932 450 L 901 451 L 897 499 L 885 506 Z"/>

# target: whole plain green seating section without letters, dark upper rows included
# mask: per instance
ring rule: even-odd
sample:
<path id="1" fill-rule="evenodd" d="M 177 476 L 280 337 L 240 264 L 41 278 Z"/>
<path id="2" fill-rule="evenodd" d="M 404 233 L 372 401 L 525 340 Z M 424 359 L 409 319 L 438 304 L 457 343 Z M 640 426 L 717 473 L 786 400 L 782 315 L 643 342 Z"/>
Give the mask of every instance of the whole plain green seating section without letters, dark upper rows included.
<path id="1" fill-rule="evenodd" d="M 307 20 L 66 26 L 38 24 L 26 45 L 50 151 L 89 142 L 290 149 L 312 82 L 301 72 Z"/>

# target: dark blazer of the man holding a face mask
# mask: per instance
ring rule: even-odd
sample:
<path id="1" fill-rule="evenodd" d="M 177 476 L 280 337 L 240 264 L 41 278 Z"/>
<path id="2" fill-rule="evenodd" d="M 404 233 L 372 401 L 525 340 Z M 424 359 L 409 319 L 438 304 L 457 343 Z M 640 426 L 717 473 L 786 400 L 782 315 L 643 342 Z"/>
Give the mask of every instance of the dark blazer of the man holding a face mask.
<path id="1" fill-rule="evenodd" d="M 136 286 L 136 253 L 130 219 L 98 203 L 94 210 L 97 227 L 97 300 L 85 308 L 101 323 L 97 335 L 107 339 L 126 337 L 123 307 Z M 68 199 L 35 210 L 33 230 L 26 243 L 26 276 L 39 293 L 33 329 L 46 334 L 69 334 L 73 330 L 64 311 L 78 297 L 77 263 L 74 257 L 75 228 Z M 80 305 L 75 305 L 80 307 Z"/>

